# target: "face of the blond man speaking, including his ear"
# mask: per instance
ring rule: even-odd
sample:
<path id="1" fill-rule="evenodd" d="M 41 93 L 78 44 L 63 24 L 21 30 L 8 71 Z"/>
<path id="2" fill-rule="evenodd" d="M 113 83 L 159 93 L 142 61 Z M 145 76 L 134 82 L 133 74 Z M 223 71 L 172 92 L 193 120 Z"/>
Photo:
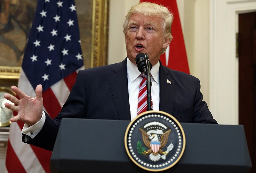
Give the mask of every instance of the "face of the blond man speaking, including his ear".
<path id="1" fill-rule="evenodd" d="M 160 17 L 131 15 L 125 44 L 127 56 L 133 64 L 136 64 L 138 53 L 147 53 L 152 66 L 159 61 L 162 49 L 170 44 L 170 39 L 164 38 L 162 20 Z"/>

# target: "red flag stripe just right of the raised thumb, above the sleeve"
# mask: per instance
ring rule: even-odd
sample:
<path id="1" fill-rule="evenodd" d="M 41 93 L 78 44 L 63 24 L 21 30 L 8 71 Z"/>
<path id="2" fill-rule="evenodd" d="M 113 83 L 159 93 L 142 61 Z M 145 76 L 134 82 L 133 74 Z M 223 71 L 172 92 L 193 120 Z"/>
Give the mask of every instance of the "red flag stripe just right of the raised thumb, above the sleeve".
<path id="1" fill-rule="evenodd" d="M 61 106 L 57 98 L 52 92 L 51 88 L 48 88 L 43 92 L 44 108 L 48 112 L 51 118 L 55 118 L 61 110 Z"/>

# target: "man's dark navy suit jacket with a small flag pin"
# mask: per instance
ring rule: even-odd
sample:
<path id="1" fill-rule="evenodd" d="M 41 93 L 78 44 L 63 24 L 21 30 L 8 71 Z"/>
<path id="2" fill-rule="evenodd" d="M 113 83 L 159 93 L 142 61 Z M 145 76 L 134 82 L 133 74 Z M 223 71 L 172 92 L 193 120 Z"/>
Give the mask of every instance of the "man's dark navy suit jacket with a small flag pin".
<path id="1" fill-rule="evenodd" d="M 59 115 L 53 120 L 46 115 L 43 129 L 31 140 L 23 135 L 23 142 L 52 150 L 64 117 L 131 120 L 126 61 L 127 58 L 121 63 L 79 71 Z M 202 101 L 199 79 L 171 70 L 161 62 L 159 79 L 159 110 L 183 123 L 217 124 L 206 102 Z"/>

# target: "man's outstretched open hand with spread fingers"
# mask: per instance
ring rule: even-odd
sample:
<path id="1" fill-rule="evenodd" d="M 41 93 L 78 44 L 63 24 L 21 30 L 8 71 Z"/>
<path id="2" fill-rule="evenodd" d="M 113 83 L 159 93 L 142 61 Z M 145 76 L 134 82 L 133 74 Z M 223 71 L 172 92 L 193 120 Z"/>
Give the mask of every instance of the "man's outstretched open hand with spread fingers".
<path id="1" fill-rule="evenodd" d="M 41 119 L 43 112 L 42 85 L 36 86 L 36 97 L 26 95 L 16 86 L 12 86 L 11 89 L 20 99 L 10 94 L 4 94 L 4 98 L 15 104 L 5 103 L 5 107 L 18 112 L 18 115 L 12 117 L 10 121 L 22 121 L 30 126 L 36 124 Z"/>

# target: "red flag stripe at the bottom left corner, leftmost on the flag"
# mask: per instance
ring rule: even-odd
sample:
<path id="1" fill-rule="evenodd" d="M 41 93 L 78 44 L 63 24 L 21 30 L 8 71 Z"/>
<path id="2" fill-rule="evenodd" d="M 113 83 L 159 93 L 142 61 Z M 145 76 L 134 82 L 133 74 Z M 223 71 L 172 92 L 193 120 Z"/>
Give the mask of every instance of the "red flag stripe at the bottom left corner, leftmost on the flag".
<path id="1" fill-rule="evenodd" d="M 23 168 L 19 158 L 13 151 L 10 141 L 8 141 L 5 165 L 9 173 L 17 172 L 17 171 L 19 171 L 19 173 L 23 173 L 23 172 L 26 173 L 26 170 Z"/>

